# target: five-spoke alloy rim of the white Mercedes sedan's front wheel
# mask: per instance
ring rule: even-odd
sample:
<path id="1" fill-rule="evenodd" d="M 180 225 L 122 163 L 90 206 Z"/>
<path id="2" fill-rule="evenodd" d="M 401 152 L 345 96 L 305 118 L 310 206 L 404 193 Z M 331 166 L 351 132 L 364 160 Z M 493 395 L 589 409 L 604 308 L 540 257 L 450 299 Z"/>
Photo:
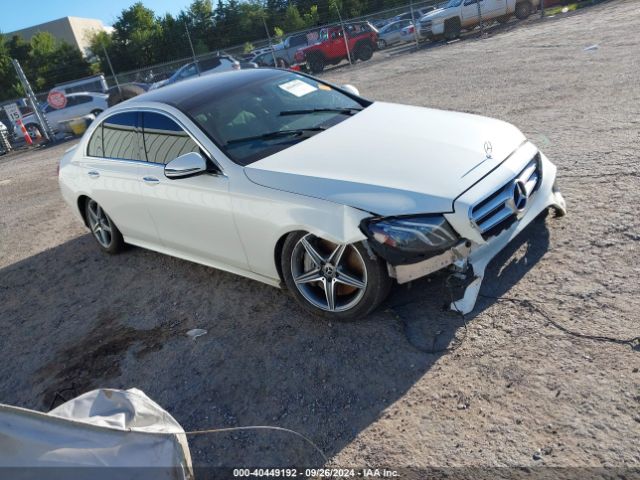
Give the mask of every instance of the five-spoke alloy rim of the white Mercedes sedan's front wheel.
<path id="1" fill-rule="evenodd" d="M 367 269 L 360 252 L 353 245 L 335 244 L 313 234 L 295 245 L 291 275 L 309 303 L 329 312 L 353 308 L 367 288 Z"/>

